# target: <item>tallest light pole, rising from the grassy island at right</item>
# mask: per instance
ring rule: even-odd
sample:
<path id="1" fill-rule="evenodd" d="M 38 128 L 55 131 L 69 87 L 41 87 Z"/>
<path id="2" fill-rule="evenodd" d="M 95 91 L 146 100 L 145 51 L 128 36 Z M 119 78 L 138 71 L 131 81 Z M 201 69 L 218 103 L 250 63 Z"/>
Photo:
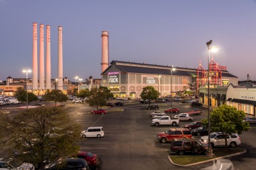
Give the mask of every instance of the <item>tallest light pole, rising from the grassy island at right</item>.
<path id="1" fill-rule="evenodd" d="M 207 48 L 208 48 L 208 154 L 207 156 L 208 157 L 211 157 L 212 158 L 212 148 L 211 148 L 211 136 L 210 136 L 210 45 L 212 43 L 212 40 L 210 40 L 209 42 L 206 43 L 207 45 Z"/>

